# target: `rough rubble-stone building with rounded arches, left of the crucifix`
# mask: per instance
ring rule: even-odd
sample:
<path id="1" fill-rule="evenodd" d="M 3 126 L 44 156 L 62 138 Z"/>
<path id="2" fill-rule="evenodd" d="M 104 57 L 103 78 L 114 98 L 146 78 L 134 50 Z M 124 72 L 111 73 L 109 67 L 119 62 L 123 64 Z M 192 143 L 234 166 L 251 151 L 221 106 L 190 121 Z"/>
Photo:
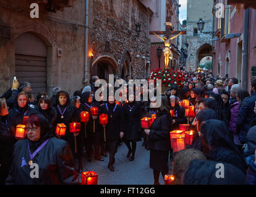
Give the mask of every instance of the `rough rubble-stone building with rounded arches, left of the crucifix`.
<path id="1" fill-rule="evenodd" d="M 145 78 L 150 71 L 149 24 L 153 12 L 140 0 L 93 0 L 89 6 L 90 72 Z"/>

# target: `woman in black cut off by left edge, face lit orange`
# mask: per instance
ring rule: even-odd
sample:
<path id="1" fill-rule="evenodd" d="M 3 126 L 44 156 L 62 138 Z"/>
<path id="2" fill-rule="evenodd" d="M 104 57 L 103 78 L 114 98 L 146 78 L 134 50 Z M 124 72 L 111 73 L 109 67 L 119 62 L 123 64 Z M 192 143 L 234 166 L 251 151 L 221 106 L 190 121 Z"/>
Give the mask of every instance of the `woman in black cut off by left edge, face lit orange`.
<path id="1" fill-rule="evenodd" d="M 12 164 L 14 133 L 11 131 L 6 98 L 0 98 L 0 185 L 4 185 Z"/>

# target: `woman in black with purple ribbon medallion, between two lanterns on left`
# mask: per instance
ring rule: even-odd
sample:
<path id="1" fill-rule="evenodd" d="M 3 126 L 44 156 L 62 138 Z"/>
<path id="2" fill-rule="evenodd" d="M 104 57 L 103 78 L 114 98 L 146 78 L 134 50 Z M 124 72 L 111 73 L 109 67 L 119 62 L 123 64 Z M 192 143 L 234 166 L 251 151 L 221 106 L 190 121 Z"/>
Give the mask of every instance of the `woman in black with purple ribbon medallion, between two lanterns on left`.
<path id="1" fill-rule="evenodd" d="M 80 123 L 79 110 L 70 103 L 69 94 L 64 90 L 58 92 L 56 99 L 56 111 L 58 113 L 56 124 L 64 123 L 66 125 L 66 134 L 62 139 L 69 143 L 73 158 L 78 159 L 82 154 L 82 144 L 80 143 L 83 138 L 82 132 L 70 132 L 69 124 Z M 77 153 L 75 153 L 75 137 L 77 137 Z M 82 172 L 82 166 L 79 166 L 78 172 Z"/>

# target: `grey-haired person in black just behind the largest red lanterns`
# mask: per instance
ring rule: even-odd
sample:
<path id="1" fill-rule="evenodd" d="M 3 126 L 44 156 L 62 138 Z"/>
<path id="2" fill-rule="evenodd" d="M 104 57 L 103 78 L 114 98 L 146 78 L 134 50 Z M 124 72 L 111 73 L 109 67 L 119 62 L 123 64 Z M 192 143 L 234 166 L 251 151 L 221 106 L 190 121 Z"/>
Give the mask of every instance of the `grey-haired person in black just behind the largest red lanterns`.
<path id="1" fill-rule="evenodd" d="M 179 106 L 179 98 L 176 96 L 170 97 L 171 110 L 174 110 L 173 129 L 179 129 L 179 124 L 185 124 L 185 110 Z"/>

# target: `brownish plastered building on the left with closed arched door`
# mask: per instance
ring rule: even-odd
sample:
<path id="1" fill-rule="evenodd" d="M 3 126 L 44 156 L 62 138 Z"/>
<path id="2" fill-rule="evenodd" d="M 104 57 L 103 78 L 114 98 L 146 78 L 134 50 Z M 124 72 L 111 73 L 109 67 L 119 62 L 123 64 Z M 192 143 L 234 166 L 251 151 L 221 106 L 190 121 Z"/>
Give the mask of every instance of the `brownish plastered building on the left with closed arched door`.
<path id="1" fill-rule="evenodd" d="M 39 18 L 30 17 L 33 2 Z M 0 27 L 0 95 L 14 76 L 31 82 L 33 94 L 51 95 L 56 86 L 73 94 L 83 87 L 84 0 L 1 0 Z"/>

